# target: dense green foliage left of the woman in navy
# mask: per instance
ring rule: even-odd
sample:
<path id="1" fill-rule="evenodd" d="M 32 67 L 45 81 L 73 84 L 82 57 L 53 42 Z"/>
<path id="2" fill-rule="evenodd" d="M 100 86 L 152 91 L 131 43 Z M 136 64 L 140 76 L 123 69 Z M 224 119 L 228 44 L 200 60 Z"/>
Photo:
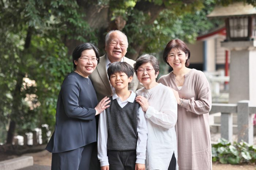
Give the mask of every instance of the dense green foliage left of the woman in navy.
<path id="1" fill-rule="evenodd" d="M 14 120 L 18 133 L 45 123 L 52 129 L 60 86 L 73 65 L 63 42 L 95 41 L 94 32 L 74 0 L 5 0 L 0 6 L 0 121 L 7 127 Z"/>

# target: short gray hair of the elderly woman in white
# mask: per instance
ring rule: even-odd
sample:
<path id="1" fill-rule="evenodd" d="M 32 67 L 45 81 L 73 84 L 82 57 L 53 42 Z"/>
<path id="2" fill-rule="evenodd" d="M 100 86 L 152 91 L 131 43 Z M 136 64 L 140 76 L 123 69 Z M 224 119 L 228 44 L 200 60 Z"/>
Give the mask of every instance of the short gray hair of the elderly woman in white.
<path id="1" fill-rule="evenodd" d="M 155 74 L 159 73 L 159 62 L 153 54 L 142 54 L 137 60 L 136 63 L 133 65 L 133 69 L 137 75 L 137 69 L 145 63 L 151 63 L 154 70 Z"/>

